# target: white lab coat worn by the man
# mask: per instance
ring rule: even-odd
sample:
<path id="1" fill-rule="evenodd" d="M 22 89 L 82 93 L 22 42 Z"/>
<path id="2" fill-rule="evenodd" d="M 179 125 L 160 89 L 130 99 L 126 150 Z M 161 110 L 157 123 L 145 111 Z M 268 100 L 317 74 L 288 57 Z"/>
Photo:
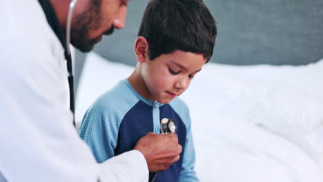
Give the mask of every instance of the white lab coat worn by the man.
<path id="1" fill-rule="evenodd" d="M 141 152 L 98 164 L 79 138 L 63 48 L 38 1 L 0 7 L 0 181 L 148 181 Z"/>

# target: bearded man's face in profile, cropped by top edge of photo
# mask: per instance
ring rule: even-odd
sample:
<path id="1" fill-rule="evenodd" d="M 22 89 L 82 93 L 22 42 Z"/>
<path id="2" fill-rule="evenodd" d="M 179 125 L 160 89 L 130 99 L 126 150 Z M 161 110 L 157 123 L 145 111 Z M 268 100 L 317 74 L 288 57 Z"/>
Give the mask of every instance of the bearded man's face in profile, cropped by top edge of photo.
<path id="1" fill-rule="evenodd" d="M 115 28 L 124 28 L 127 3 L 130 0 L 90 0 L 84 11 L 72 20 L 70 42 L 82 52 L 89 52 L 102 36 Z"/>

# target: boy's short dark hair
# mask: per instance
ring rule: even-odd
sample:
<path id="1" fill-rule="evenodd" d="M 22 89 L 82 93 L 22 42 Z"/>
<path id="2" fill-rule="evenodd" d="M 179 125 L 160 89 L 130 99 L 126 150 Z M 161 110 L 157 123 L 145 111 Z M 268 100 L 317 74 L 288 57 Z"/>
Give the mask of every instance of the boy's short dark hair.
<path id="1" fill-rule="evenodd" d="M 151 0 L 138 36 L 149 43 L 150 60 L 175 50 L 204 54 L 211 59 L 217 27 L 202 0 Z"/>

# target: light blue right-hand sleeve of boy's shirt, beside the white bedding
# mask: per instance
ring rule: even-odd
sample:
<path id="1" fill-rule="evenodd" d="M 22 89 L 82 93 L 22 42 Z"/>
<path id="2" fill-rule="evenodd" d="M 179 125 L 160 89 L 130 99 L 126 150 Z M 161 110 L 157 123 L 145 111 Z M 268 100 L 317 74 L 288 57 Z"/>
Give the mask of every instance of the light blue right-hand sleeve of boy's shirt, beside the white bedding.
<path id="1" fill-rule="evenodd" d="M 186 141 L 184 148 L 184 156 L 183 156 L 183 164 L 182 171 L 179 174 L 180 182 L 195 182 L 199 181 L 197 178 L 197 174 L 195 172 L 195 148 L 193 143 L 193 134 L 191 130 L 190 123 L 190 113 L 188 107 L 184 101 L 181 99 L 176 99 L 173 103 L 170 103 L 172 107 L 175 109 L 179 117 L 182 118 L 182 121 L 186 125 Z"/>

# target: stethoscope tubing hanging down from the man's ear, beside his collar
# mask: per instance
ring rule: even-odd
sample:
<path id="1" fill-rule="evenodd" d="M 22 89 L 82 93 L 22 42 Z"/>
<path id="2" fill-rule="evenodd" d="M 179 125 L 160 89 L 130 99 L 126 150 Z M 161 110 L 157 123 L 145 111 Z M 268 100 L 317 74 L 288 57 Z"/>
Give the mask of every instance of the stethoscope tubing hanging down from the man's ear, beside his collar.
<path id="1" fill-rule="evenodd" d="M 72 55 L 70 54 L 70 25 L 72 21 L 72 12 L 77 0 L 72 0 L 70 2 L 70 7 L 68 8 L 68 17 L 66 23 L 66 52 L 65 57 L 67 61 L 68 70 L 68 87 L 70 89 L 70 111 L 73 114 L 73 125 L 75 125 L 75 94 L 74 94 L 74 75 L 72 69 Z"/>

